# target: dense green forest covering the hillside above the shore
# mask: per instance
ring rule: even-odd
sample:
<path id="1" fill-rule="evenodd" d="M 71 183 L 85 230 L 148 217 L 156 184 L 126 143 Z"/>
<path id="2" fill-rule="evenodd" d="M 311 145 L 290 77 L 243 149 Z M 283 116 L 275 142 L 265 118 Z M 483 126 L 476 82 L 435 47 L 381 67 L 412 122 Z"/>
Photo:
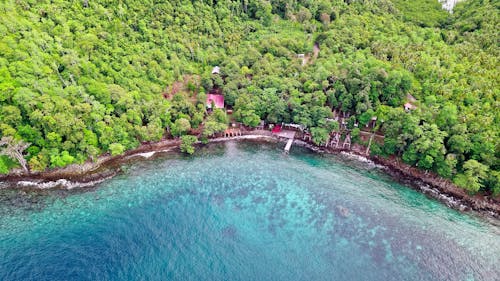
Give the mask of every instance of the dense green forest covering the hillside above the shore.
<path id="1" fill-rule="evenodd" d="M 372 153 L 498 194 L 499 9 L 498 0 L 467 0 L 452 14 L 437 0 L 2 1 L 0 137 L 11 151 L 0 172 L 117 155 L 201 124 L 210 136 L 227 125 L 224 112 L 205 110 L 205 93 L 218 89 L 245 125 L 299 123 L 316 143 L 332 109 L 350 114 L 354 136 L 354 124 L 377 116 L 385 140 Z"/>

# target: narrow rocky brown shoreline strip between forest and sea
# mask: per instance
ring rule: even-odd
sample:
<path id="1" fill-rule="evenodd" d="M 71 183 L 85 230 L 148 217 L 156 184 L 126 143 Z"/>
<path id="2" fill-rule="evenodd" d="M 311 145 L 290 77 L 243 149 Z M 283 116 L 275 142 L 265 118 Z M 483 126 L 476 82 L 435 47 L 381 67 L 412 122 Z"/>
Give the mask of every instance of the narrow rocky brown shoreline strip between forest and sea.
<path id="1" fill-rule="evenodd" d="M 254 130 L 244 132 L 241 136 L 219 137 L 209 139 L 209 143 L 225 141 L 272 141 L 283 142 L 282 138 L 269 131 Z M 198 142 L 200 143 L 200 142 Z M 472 212 L 488 219 L 491 223 L 500 225 L 500 201 L 484 195 L 471 196 L 448 180 L 432 173 L 426 173 L 401 162 L 396 157 L 383 158 L 380 156 L 367 156 L 362 151 L 362 146 L 356 145 L 352 150 L 331 149 L 319 147 L 312 143 L 296 139 L 294 145 L 305 147 L 316 153 L 340 154 L 356 161 L 371 162 L 388 174 L 393 180 L 407 185 L 428 197 L 437 199 L 450 208 L 461 212 Z M 121 172 L 121 167 L 126 163 L 140 161 L 179 149 L 179 139 L 161 140 L 156 143 L 142 144 L 136 149 L 129 150 L 122 155 L 101 156 L 95 162 L 72 164 L 64 168 L 53 169 L 36 173 L 17 173 L 0 175 L 0 189 L 51 189 L 51 188 L 85 188 L 99 184 Z"/>

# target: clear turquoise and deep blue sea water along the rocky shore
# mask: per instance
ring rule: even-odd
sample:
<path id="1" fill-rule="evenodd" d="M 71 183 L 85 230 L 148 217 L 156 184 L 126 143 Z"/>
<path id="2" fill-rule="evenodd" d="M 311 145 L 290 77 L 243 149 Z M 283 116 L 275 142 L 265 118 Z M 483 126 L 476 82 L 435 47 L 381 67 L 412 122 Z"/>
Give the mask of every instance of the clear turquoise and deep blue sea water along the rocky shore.
<path id="1" fill-rule="evenodd" d="M 500 231 L 374 168 L 228 142 L 0 191 L 0 280 L 498 280 Z"/>

